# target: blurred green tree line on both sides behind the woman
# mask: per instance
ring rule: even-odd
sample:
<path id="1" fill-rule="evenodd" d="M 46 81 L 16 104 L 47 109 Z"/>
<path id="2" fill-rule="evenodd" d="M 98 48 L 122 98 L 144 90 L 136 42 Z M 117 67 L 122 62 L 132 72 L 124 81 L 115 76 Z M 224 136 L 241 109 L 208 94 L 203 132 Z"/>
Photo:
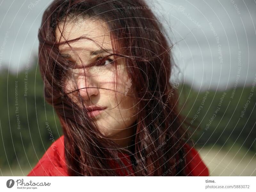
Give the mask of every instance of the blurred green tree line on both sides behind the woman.
<path id="1" fill-rule="evenodd" d="M 57 140 L 62 135 L 54 109 L 44 101 L 44 84 L 36 61 L 37 58 L 28 61 L 18 74 L 4 68 L 0 71 L 1 170 L 34 167 L 52 144 L 52 138 Z M 198 147 L 236 146 L 256 152 L 256 93 L 241 117 L 251 88 L 237 87 L 232 94 L 233 88 L 198 92 L 179 84 L 182 115 L 191 125 L 188 129 Z"/>

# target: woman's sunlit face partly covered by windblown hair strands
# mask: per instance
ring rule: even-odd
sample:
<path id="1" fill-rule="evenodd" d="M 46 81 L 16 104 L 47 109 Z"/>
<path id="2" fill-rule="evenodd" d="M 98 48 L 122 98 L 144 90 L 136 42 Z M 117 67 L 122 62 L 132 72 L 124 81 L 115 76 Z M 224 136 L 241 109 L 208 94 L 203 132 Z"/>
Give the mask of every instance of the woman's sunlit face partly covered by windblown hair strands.
<path id="1" fill-rule="evenodd" d="M 62 30 L 63 23 L 59 24 Z M 65 41 L 86 36 L 93 39 L 104 50 L 112 52 L 110 33 L 104 22 L 99 20 L 76 20 L 65 23 L 63 36 L 58 29 L 55 30 L 57 41 Z M 76 62 L 76 65 L 92 63 L 105 56 L 106 52 L 102 52 L 93 41 L 81 39 L 68 44 L 63 44 L 59 47 L 60 54 L 67 57 L 68 60 Z M 80 57 L 80 59 L 78 59 Z M 136 121 L 136 106 L 132 96 L 132 81 L 128 77 L 124 58 L 116 60 L 116 68 L 111 61 L 104 61 L 103 66 L 93 66 L 91 68 L 74 69 L 72 78 L 65 79 L 65 92 L 74 90 L 73 81 L 78 85 L 81 96 L 85 100 L 86 107 L 102 107 L 103 110 L 93 110 L 88 115 L 97 123 L 100 131 L 107 137 L 122 135 L 128 132 L 129 128 Z M 85 71 L 85 76 L 84 76 Z M 117 86 L 117 87 L 116 87 Z M 88 88 L 86 88 L 88 87 Z M 92 88 L 93 87 L 93 88 Z M 102 89 L 103 88 L 103 89 Z M 87 91 L 87 92 L 86 92 Z M 87 94 L 88 93 L 88 94 Z M 72 100 L 79 102 L 75 94 Z"/>

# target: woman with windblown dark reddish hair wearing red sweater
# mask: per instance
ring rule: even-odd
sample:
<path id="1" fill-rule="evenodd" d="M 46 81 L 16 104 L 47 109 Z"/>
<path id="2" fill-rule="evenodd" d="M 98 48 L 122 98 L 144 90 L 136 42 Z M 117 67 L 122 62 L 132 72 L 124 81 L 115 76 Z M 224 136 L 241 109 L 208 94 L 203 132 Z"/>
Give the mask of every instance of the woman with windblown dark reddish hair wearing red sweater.
<path id="1" fill-rule="evenodd" d="M 188 144 L 163 34 L 142 0 L 52 2 L 39 65 L 63 136 L 28 176 L 209 175 Z"/>

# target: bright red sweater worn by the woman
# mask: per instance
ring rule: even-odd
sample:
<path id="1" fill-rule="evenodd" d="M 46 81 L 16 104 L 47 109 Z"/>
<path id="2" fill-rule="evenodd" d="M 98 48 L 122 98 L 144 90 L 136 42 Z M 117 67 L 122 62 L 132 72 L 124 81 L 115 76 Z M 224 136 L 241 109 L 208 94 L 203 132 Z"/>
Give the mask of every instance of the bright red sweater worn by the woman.
<path id="1" fill-rule="evenodd" d="M 188 155 L 185 156 L 185 160 L 187 161 L 186 172 L 188 176 L 209 176 L 208 168 L 205 166 L 196 149 L 190 148 L 188 145 L 186 145 L 185 149 L 186 152 L 188 152 Z M 125 156 L 131 160 L 130 156 L 126 154 Z M 129 164 L 123 159 L 124 158 L 122 158 L 124 164 L 133 172 L 132 164 Z M 119 165 L 114 162 L 112 163 L 116 166 L 118 171 L 118 168 L 120 168 Z M 47 149 L 43 157 L 27 176 L 69 176 L 65 162 L 63 135 Z"/>

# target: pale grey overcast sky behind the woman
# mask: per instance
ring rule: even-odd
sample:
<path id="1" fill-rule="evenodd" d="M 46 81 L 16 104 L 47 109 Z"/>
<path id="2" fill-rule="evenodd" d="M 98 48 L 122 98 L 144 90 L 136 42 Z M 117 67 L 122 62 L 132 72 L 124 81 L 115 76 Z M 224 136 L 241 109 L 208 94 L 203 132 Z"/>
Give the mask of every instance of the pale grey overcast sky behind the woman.
<path id="1" fill-rule="evenodd" d="M 0 71 L 7 67 L 17 73 L 37 54 L 37 32 L 51 1 L 0 2 Z M 147 2 L 167 30 L 172 30 L 168 39 L 179 41 L 173 51 L 181 73 L 173 79 L 176 76 L 197 89 L 232 88 L 241 51 L 238 85 L 252 84 L 256 77 L 255 0 Z"/>

